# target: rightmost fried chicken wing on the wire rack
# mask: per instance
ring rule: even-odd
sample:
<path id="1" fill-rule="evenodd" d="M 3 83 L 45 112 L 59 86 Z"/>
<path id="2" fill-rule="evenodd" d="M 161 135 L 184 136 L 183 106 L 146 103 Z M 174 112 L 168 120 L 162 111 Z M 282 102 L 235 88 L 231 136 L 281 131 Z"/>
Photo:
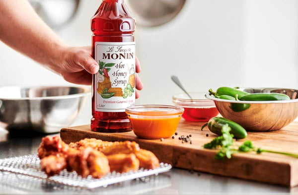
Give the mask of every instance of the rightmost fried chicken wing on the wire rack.
<path id="1" fill-rule="evenodd" d="M 145 169 L 155 169 L 159 166 L 158 158 L 149 150 L 140 149 L 135 154 L 140 160 L 140 167 Z"/>

